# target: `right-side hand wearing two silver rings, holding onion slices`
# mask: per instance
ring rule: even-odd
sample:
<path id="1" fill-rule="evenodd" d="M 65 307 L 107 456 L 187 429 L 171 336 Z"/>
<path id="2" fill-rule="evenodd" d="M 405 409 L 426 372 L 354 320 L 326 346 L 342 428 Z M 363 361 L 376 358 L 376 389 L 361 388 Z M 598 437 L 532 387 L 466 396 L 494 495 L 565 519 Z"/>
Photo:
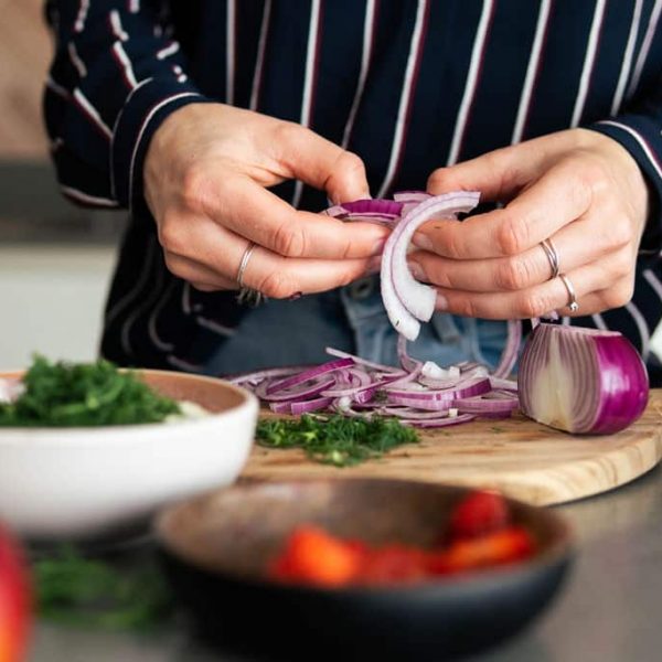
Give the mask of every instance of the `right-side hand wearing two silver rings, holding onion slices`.
<path id="1" fill-rule="evenodd" d="M 499 149 L 428 180 L 434 194 L 480 191 L 503 209 L 461 223 L 433 221 L 415 236 L 414 275 L 437 286 L 437 309 L 466 317 L 519 319 L 553 310 L 570 314 L 568 291 L 543 239 L 572 281 L 576 316 L 627 303 L 648 216 L 648 189 L 618 142 L 570 129 Z"/>

